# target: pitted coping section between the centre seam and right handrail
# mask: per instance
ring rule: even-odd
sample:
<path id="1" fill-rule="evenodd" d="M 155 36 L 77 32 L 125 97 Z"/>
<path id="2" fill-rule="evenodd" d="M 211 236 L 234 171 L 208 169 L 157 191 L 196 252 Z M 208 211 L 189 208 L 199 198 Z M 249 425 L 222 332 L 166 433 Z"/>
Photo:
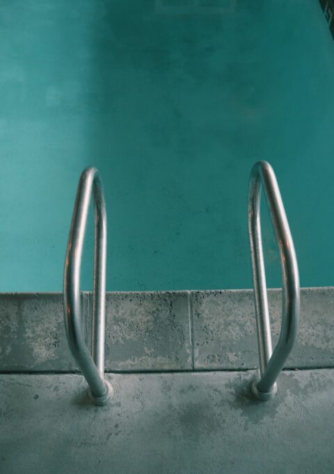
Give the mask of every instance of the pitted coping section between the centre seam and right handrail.
<path id="1" fill-rule="evenodd" d="M 195 369 L 255 367 L 253 292 L 193 291 Z"/>

